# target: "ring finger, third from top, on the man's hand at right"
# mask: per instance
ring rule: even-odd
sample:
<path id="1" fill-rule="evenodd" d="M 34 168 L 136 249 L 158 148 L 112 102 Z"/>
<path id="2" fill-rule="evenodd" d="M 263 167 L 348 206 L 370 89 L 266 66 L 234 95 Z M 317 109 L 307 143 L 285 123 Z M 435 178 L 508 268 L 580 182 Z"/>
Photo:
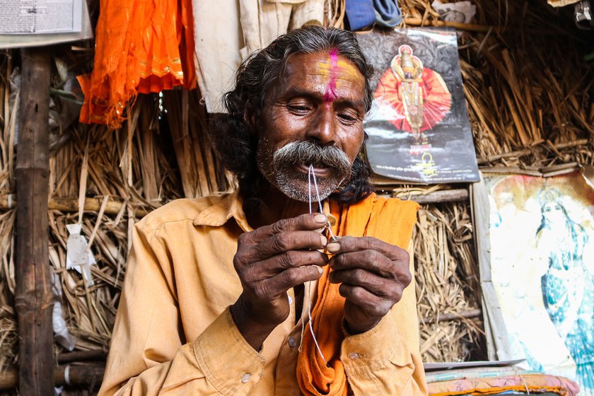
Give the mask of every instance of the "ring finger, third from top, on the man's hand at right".
<path id="1" fill-rule="evenodd" d="M 347 269 L 344 271 L 330 272 L 330 282 L 333 284 L 349 284 L 360 286 L 374 296 L 400 300 L 402 291 L 408 284 L 392 279 L 385 279 L 381 276 L 368 272 L 365 269 Z"/>

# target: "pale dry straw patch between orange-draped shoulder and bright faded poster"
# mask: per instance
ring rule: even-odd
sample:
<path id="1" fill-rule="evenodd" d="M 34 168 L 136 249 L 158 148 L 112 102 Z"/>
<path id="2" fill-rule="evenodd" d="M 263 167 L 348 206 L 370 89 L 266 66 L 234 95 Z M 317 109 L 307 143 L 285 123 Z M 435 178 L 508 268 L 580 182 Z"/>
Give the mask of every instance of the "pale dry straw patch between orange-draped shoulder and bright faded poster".
<path id="1" fill-rule="evenodd" d="M 423 360 L 482 357 L 479 274 L 467 203 L 422 206 L 414 246 Z"/>

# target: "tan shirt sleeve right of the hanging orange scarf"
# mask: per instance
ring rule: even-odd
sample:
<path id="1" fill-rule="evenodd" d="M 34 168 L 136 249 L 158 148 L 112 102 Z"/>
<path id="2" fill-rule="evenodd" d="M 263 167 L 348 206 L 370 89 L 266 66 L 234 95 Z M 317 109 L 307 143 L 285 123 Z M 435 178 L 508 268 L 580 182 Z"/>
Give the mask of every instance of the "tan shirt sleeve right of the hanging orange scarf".
<path id="1" fill-rule="evenodd" d="M 412 241 L 408 251 L 414 274 Z M 428 395 L 414 289 L 413 276 L 400 301 L 378 325 L 342 342 L 341 361 L 354 395 Z"/>

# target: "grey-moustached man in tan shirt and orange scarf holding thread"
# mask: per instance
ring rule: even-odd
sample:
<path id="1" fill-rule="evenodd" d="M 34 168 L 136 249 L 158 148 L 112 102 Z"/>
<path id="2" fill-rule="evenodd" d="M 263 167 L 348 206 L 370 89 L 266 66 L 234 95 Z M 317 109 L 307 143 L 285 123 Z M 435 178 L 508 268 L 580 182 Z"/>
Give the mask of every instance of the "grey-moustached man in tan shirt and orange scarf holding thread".
<path id="1" fill-rule="evenodd" d="M 240 66 L 214 128 L 239 190 L 136 226 L 100 394 L 426 395 L 417 205 L 375 197 L 358 158 L 371 73 L 319 27 Z"/>

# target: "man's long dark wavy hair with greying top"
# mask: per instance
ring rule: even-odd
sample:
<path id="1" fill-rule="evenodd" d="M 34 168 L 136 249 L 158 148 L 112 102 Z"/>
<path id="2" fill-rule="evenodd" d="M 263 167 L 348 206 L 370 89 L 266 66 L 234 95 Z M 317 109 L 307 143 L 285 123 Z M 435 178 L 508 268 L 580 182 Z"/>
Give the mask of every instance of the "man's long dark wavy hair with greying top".
<path id="1" fill-rule="evenodd" d="M 211 140 L 221 162 L 238 177 L 244 209 L 256 209 L 257 189 L 263 180 L 257 170 L 257 136 L 250 134 L 245 120 L 260 116 L 267 95 L 279 83 L 286 62 L 293 54 L 330 52 L 351 61 L 365 78 L 366 112 L 371 108 L 373 91 L 370 80 L 373 67 L 368 64 L 353 33 L 335 28 L 308 26 L 279 36 L 268 47 L 254 52 L 239 66 L 235 76 L 235 88 L 223 96 L 223 105 L 228 114 L 215 117 L 211 128 Z M 353 163 L 351 180 L 330 197 L 342 203 L 361 201 L 373 192 L 369 182 L 369 170 L 363 159 Z M 251 208 L 250 208 L 251 207 Z"/>

